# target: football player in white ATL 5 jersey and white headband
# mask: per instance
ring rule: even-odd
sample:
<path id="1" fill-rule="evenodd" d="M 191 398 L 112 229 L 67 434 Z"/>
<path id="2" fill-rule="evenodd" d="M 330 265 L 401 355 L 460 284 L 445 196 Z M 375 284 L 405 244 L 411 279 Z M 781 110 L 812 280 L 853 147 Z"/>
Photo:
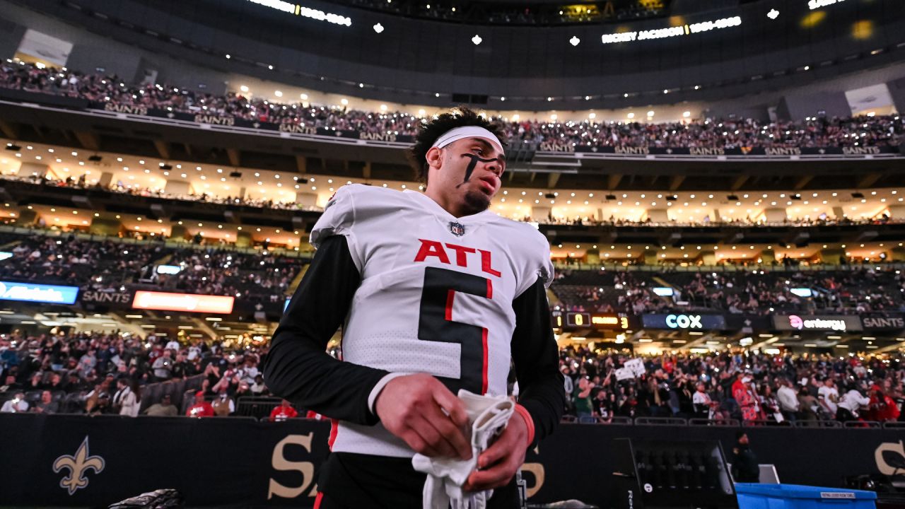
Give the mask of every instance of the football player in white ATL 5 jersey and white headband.
<path id="1" fill-rule="evenodd" d="M 548 241 L 487 210 L 506 158 L 500 130 L 474 111 L 424 123 L 409 155 L 424 193 L 351 185 L 330 198 L 264 378 L 335 419 L 316 506 L 420 507 L 412 456 L 469 459 L 455 393 L 505 395 L 514 363 L 519 406 L 463 488 L 496 488 L 489 507 L 517 506 L 514 475 L 565 404 Z M 325 352 L 340 325 L 343 361 Z"/>

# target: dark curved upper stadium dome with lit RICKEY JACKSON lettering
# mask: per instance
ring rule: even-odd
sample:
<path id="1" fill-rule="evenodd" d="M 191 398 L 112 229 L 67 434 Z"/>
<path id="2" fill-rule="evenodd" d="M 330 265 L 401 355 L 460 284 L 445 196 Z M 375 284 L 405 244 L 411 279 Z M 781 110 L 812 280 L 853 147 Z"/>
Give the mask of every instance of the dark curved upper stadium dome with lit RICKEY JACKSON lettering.
<path id="1" fill-rule="evenodd" d="M 669 18 L 543 28 L 428 23 L 316 1 L 306 8 L 348 17 L 350 25 L 239 0 L 14 1 L 137 48 L 125 61 L 140 62 L 143 51 L 168 55 L 205 70 L 208 83 L 224 78 L 218 72 L 234 73 L 442 107 L 500 109 L 502 97 L 519 110 L 722 101 L 888 66 L 905 49 L 899 0 L 814 11 L 805 1 L 782 3 L 775 18 L 766 2 L 724 2 L 708 13 L 683 8 Z"/>

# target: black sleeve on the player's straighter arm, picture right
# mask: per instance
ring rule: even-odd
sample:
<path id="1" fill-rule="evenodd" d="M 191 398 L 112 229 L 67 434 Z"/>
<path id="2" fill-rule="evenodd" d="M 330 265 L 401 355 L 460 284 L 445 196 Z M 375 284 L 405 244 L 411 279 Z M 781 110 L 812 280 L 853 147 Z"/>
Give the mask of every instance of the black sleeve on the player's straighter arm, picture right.
<path id="1" fill-rule="evenodd" d="M 534 440 L 553 432 L 566 407 L 557 341 L 550 326 L 550 308 L 543 280 L 512 301 L 515 331 L 512 360 L 519 381 L 519 404 L 534 420 Z"/>

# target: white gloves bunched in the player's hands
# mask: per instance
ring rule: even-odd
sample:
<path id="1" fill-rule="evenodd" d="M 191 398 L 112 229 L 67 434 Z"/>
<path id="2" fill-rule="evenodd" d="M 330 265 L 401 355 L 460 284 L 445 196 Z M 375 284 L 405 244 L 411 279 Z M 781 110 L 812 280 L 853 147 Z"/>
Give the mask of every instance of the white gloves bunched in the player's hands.
<path id="1" fill-rule="evenodd" d="M 478 456 L 490 445 L 491 438 L 506 427 L 515 411 L 515 403 L 505 396 L 481 396 L 464 389 L 459 390 L 459 399 L 465 404 L 472 430 L 472 459 L 414 455 L 414 469 L 427 474 L 422 496 L 424 509 L 448 509 L 451 504 L 452 509 L 483 509 L 493 494 L 493 490 L 466 493 L 462 491 L 462 485 L 477 465 Z"/>

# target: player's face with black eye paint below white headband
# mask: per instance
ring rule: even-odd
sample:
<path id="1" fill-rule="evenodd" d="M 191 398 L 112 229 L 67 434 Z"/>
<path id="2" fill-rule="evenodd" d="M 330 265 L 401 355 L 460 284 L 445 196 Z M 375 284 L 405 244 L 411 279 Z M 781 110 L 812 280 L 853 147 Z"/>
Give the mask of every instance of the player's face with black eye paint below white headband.
<path id="1" fill-rule="evenodd" d="M 502 186 L 504 156 L 481 138 L 459 139 L 438 150 L 433 161 L 428 155 L 429 194 L 456 216 L 487 210 Z"/>

